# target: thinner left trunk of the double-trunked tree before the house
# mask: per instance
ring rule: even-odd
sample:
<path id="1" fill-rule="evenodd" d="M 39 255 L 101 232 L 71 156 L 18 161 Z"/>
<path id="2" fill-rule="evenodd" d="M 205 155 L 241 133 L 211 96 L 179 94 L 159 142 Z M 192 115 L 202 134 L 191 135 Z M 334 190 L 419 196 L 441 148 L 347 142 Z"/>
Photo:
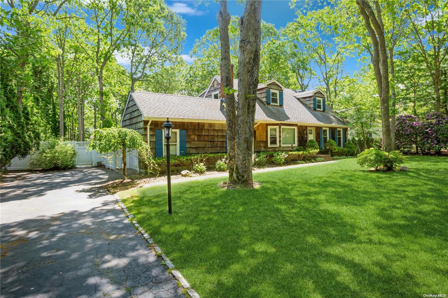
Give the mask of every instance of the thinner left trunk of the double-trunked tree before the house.
<path id="1" fill-rule="evenodd" d="M 227 11 L 227 0 L 221 0 L 221 7 L 216 14 L 220 28 L 221 38 L 221 77 L 224 88 L 233 88 L 233 73 L 230 62 L 230 44 L 228 37 L 228 25 L 230 23 L 230 14 Z M 224 90 L 223 88 L 223 90 Z M 222 93 L 222 92 L 221 92 Z M 227 165 L 228 165 L 228 180 L 230 183 L 237 183 L 236 166 L 236 126 L 237 126 L 237 112 L 235 106 L 235 95 L 233 93 L 221 94 L 221 98 L 225 100 L 226 113 L 226 129 L 227 129 Z"/>

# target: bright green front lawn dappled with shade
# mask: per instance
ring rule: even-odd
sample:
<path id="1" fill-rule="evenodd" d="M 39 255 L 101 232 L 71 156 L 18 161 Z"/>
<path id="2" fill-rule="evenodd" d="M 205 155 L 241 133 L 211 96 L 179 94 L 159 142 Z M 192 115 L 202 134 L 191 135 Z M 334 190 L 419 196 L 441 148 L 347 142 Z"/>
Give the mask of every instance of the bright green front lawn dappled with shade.
<path id="1" fill-rule="evenodd" d="M 138 223 L 206 297 L 423 297 L 448 294 L 448 158 L 409 172 L 355 159 L 120 192 Z"/>

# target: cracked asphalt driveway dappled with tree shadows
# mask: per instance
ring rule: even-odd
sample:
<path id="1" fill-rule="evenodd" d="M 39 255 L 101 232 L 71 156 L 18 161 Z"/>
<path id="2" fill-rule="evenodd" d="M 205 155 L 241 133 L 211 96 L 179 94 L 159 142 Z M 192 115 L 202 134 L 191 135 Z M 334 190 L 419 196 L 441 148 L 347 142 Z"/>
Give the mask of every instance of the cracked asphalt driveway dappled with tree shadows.
<path id="1" fill-rule="evenodd" d="M 98 187 L 120 177 L 104 168 L 2 177 L 1 298 L 185 297 Z"/>

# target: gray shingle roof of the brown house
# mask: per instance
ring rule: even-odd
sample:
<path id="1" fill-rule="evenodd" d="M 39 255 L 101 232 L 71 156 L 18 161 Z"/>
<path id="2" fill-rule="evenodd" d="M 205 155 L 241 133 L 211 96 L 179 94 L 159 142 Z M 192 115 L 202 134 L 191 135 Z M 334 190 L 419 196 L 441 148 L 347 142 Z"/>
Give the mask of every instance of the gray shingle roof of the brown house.
<path id="1" fill-rule="evenodd" d="M 131 91 L 131 94 L 145 117 L 225 120 L 224 105 L 219 99 L 143 91 Z M 283 90 L 283 108 L 265 106 L 257 100 L 255 121 L 347 125 L 343 119 L 333 115 L 330 106 L 326 107 L 325 113 L 313 111 L 295 98 L 295 94 L 295 90 Z"/>

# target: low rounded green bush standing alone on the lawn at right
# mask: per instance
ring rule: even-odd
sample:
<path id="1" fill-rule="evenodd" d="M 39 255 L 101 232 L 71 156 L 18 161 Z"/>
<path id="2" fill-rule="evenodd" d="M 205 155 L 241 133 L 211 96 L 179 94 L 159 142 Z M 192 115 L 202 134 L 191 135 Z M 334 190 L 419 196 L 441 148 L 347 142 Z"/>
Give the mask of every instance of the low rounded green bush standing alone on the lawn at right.
<path id="1" fill-rule="evenodd" d="M 399 151 L 383 152 L 378 148 L 366 149 L 358 154 L 356 162 L 360 166 L 374 168 L 375 170 L 393 170 L 405 162 L 405 157 Z"/>

